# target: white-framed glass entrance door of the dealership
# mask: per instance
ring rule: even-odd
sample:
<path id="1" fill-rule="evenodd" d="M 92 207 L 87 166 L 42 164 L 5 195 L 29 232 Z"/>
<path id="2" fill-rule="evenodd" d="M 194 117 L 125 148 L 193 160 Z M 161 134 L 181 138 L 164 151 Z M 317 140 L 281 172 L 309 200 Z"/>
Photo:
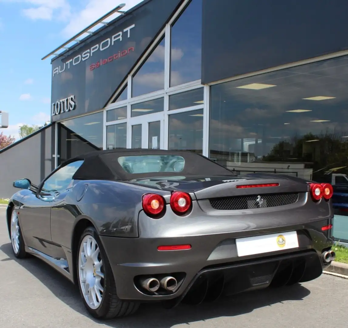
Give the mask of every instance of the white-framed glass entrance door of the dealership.
<path id="1" fill-rule="evenodd" d="M 128 148 L 164 149 L 164 113 L 129 120 Z"/>

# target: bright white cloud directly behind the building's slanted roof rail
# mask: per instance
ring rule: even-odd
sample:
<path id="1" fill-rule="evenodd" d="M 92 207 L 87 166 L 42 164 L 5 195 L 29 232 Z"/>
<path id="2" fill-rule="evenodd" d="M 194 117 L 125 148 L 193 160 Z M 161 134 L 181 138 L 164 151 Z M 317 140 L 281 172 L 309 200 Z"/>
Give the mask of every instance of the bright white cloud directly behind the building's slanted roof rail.
<path id="1" fill-rule="evenodd" d="M 122 8 L 122 11 L 127 11 L 130 8 L 136 6 L 142 0 L 127 0 L 125 1 L 126 6 Z M 114 0 L 88 0 L 87 5 L 81 11 L 73 13 L 68 25 L 63 29 L 62 34 L 65 38 L 70 38 L 76 33 L 83 30 L 86 26 L 102 17 L 108 11 L 116 7 L 120 2 Z M 116 13 L 111 15 L 106 21 L 111 21 L 120 14 Z M 98 25 L 98 28 L 100 25 Z"/>

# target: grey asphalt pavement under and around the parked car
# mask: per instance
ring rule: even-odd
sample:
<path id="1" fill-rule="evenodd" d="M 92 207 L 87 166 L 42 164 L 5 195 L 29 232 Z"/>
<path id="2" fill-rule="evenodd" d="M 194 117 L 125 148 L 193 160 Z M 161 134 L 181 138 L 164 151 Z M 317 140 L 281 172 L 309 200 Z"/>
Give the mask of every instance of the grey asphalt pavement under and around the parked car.
<path id="1" fill-rule="evenodd" d="M 132 317 L 98 322 L 79 292 L 36 258 L 16 260 L 0 208 L 0 327 L 347 328 L 348 279 L 323 274 L 290 288 L 266 289 L 199 306 L 145 304 Z"/>

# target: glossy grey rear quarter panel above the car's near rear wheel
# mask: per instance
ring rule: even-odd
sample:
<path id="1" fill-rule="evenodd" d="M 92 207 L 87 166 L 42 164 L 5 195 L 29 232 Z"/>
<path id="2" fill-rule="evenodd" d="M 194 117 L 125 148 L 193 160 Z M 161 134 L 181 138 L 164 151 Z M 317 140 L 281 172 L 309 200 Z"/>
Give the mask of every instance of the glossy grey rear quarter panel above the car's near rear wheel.
<path id="1" fill-rule="evenodd" d="M 64 201 L 52 206 L 52 240 L 71 248 L 74 227 L 81 219 L 90 220 L 101 235 L 136 238 L 142 195 L 149 192 L 153 189 L 124 182 L 79 181 Z"/>

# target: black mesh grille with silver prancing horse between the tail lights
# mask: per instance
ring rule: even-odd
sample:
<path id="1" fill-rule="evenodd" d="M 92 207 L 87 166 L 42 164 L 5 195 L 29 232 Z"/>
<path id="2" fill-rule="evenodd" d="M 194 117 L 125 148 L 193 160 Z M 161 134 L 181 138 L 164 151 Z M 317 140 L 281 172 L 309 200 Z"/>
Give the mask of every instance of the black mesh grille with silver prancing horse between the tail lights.
<path id="1" fill-rule="evenodd" d="M 215 210 L 247 210 L 289 205 L 298 199 L 299 193 L 282 193 L 211 198 L 209 202 Z"/>

